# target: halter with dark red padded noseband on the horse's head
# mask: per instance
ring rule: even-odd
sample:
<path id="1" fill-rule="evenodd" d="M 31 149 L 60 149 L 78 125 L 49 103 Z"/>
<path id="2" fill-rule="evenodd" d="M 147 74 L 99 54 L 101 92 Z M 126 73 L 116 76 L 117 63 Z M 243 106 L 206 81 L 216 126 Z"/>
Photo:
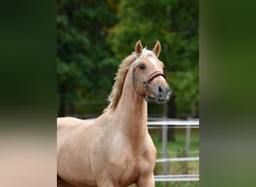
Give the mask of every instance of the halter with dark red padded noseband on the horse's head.
<path id="1" fill-rule="evenodd" d="M 139 96 L 143 97 L 146 101 L 149 101 L 150 99 L 156 99 L 156 98 L 153 98 L 152 96 L 150 96 L 149 93 L 147 92 L 147 91 L 148 91 L 148 89 L 147 89 L 147 83 L 148 83 L 148 82 L 151 82 L 153 79 L 155 79 L 156 76 L 163 76 L 163 77 L 165 78 L 165 80 L 166 80 L 165 74 L 162 73 L 162 72 L 160 72 L 160 71 L 155 71 L 155 72 L 151 73 L 150 76 L 147 77 L 147 79 L 144 79 L 144 80 L 143 80 L 143 79 L 140 79 L 140 78 L 137 76 L 137 74 L 136 74 L 136 72 L 135 72 L 135 68 L 132 70 L 132 77 L 133 77 L 133 82 L 132 82 L 132 83 L 133 83 L 133 88 L 134 88 L 135 92 L 136 92 Z M 138 80 L 138 82 L 141 82 L 141 84 L 143 85 L 144 93 L 145 93 L 144 95 L 138 92 L 138 90 L 137 90 L 137 88 L 136 88 L 136 86 L 135 86 L 135 81 L 136 81 L 136 79 Z"/>

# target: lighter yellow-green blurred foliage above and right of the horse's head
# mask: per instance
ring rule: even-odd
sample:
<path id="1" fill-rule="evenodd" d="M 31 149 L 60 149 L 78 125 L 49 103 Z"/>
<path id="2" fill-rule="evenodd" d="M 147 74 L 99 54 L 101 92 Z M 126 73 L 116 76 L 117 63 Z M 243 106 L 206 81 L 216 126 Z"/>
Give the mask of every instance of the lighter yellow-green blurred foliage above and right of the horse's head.
<path id="1" fill-rule="evenodd" d="M 107 40 L 118 60 L 133 49 L 138 39 L 149 48 L 156 40 L 161 42 L 159 59 L 165 63 L 168 83 L 178 102 L 177 112 L 190 112 L 189 102 L 198 101 L 198 8 L 198 1 L 121 1 L 118 24 Z"/>

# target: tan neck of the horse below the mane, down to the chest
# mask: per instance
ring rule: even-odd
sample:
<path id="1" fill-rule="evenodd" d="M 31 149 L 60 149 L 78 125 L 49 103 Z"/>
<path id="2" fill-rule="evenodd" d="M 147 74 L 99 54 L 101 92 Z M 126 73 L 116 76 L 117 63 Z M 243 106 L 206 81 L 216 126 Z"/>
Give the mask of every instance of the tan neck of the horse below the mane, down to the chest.
<path id="1" fill-rule="evenodd" d="M 132 72 L 129 70 L 115 114 L 118 126 L 138 143 L 140 138 L 147 135 L 147 102 L 135 93 L 132 81 Z"/>

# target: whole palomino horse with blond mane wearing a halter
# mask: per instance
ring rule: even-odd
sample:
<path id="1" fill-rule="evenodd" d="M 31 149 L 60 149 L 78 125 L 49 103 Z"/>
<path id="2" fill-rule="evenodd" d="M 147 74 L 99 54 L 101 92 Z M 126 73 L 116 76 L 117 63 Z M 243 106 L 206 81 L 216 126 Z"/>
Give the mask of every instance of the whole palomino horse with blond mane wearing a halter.
<path id="1" fill-rule="evenodd" d="M 57 119 L 58 186 L 155 186 L 156 147 L 147 131 L 147 100 L 165 102 L 170 89 L 158 56 L 142 48 L 122 61 L 109 106 L 96 120 Z"/>

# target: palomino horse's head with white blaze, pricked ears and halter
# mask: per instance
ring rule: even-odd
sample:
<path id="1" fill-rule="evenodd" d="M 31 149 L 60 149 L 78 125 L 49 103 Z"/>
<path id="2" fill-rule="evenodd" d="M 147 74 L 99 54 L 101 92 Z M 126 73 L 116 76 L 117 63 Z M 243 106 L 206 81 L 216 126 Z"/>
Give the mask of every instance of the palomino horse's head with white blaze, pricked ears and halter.
<path id="1" fill-rule="evenodd" d="M 171 94 L 163 73 L 164 64 L 159 61 L 161 51 L 159 41 L 152 51 L 143 49 L 141 40 L 135 44 L 135 61 L 132 64 L 133 87 L 138 95 L 144 99 L 156 99 L 156 102 L 165 102 Z"/>

